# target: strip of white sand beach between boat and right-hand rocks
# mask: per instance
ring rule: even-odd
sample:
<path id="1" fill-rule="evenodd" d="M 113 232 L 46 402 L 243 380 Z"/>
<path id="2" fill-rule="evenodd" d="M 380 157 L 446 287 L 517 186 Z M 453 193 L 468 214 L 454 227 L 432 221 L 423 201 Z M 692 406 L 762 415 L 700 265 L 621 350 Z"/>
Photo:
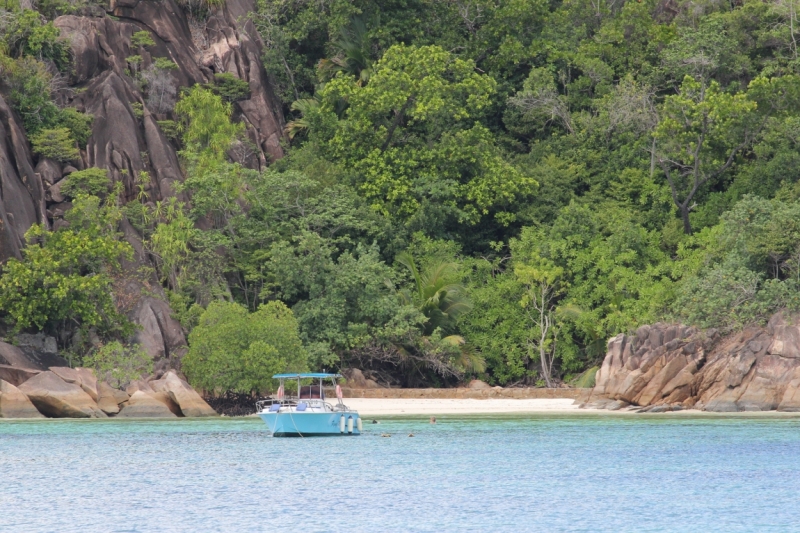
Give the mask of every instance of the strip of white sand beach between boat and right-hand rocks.
<path id="1" fill-rule="evenodd" d="M 558 413 L 574 412 L 578 409 L 575 400 L 570 398 L 526 400 L 346 398 L 344 402 L 348 407 L 358 410 L 362 416 Z"/>

